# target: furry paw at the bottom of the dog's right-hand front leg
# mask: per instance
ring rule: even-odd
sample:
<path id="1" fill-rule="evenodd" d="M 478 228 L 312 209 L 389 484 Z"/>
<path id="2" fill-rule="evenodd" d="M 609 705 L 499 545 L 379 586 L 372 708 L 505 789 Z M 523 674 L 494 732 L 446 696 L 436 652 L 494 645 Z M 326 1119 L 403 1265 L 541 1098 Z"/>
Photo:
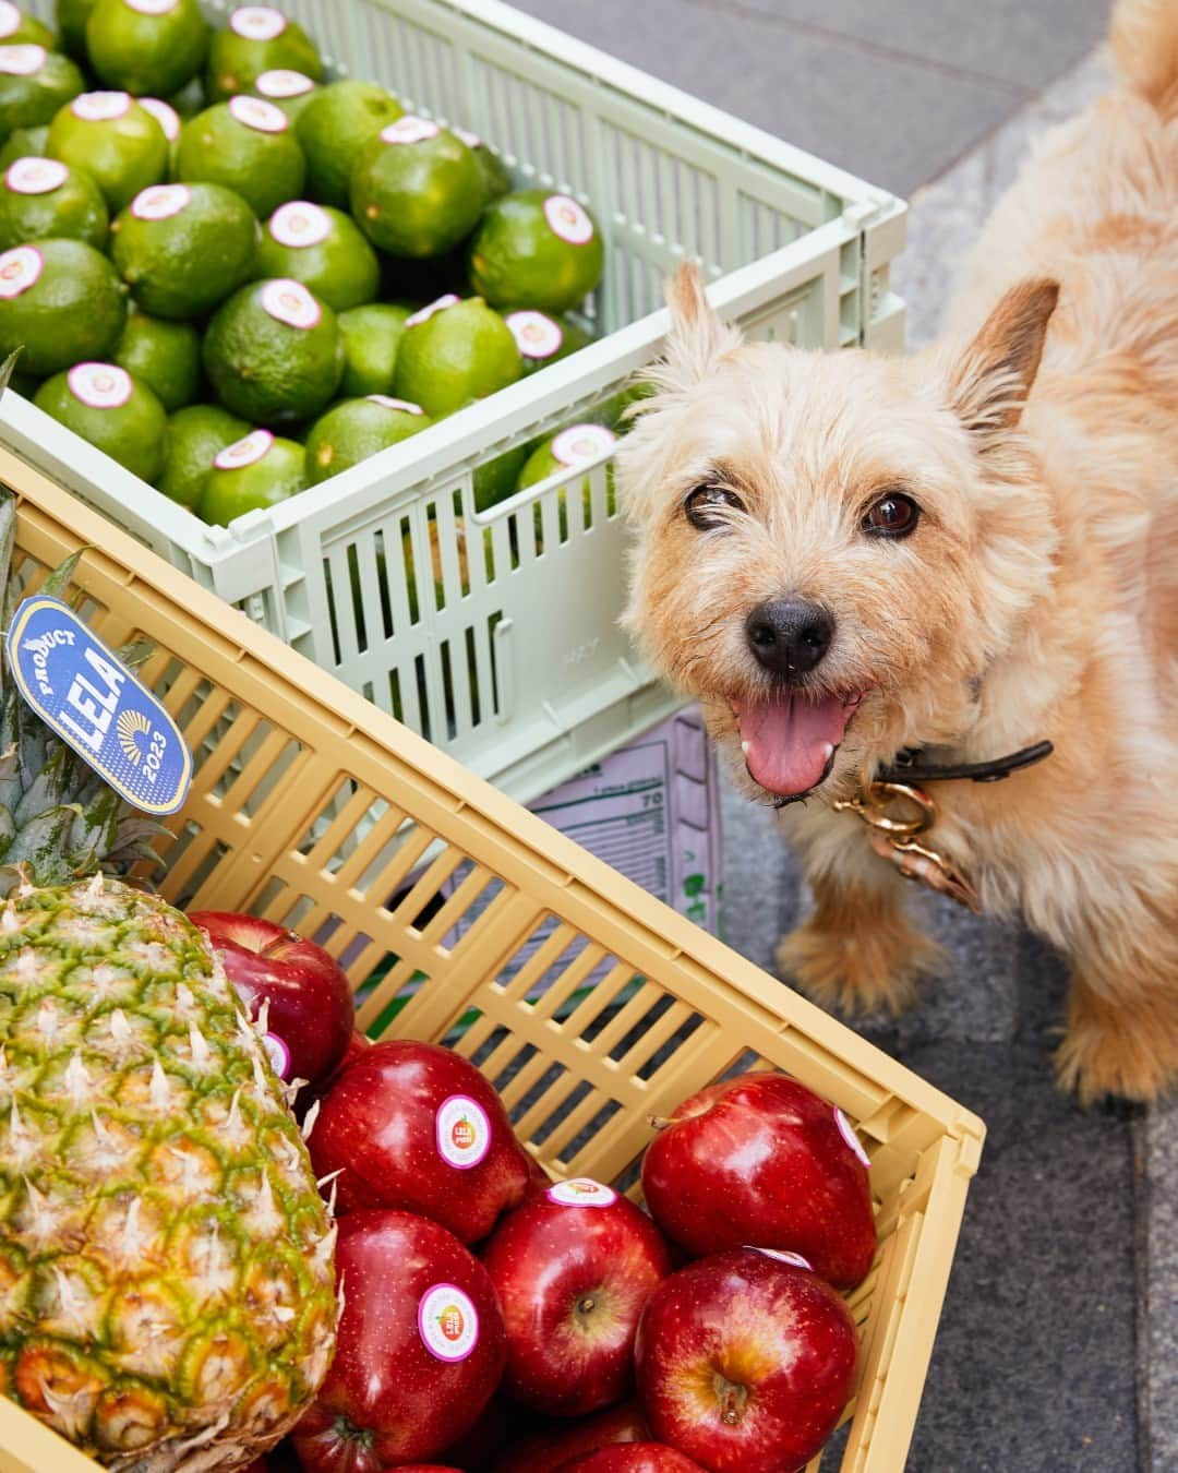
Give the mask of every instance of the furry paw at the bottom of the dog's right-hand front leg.
<path id="1" fill-rule="evenodd" d="M 1178 1081 L 1178 1043 L 1138 1019 L 1128 1006 L 1107 1016 L 1072 1009 L 1068 1033 L 1056 1050 L 1056 1078 L 1081 1105 L 1107 1099 L 1149 1105 Z"/>

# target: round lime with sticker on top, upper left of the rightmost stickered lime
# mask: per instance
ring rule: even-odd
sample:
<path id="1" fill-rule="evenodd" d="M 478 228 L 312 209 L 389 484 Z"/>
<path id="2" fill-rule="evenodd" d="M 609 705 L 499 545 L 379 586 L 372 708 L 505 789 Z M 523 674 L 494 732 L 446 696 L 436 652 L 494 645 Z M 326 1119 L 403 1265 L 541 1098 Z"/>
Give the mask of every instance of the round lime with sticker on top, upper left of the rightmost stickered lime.
<path id="1" fill-rule="evenodd" d="M 352 214 L 393 256 L 437 256 L 474 228 L 486 194 L 474 153 L 424 118 L 398 118 L 361 149 Z"/>

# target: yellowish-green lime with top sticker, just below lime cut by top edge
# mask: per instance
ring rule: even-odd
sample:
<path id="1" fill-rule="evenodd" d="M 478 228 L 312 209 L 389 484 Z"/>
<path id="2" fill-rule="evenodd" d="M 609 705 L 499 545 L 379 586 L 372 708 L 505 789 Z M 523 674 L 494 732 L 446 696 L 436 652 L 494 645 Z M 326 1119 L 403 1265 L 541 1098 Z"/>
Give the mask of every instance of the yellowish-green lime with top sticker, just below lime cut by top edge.
<path id="1" fill-rule="evenodd" d="M 168 174 L 163 128 L 125 91 L 75 97 L 50 124 L 46 152 L 93 174 L 112 215 Z"/>

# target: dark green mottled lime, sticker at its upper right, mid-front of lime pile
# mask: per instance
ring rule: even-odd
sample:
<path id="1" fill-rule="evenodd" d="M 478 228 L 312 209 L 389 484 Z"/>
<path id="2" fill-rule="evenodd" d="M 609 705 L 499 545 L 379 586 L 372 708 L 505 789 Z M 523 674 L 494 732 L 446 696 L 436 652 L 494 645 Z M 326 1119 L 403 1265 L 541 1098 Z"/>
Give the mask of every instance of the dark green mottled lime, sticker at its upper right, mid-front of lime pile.
<path id="1" fill-rule="evenodd" d="M 255 424 L 296 424 L 320 414 L 343 377 L 336 314 L 302 281 L 241 287 L 209 323 L 205 373 L 216 398 Z"/>

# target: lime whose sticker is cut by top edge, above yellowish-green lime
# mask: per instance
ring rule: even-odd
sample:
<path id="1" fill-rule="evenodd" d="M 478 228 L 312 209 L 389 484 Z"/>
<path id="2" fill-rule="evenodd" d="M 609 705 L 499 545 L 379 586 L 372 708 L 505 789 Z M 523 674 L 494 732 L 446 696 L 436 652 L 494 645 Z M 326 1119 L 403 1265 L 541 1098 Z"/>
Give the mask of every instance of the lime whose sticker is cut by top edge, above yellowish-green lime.
<path id="1" fill-rule="evenodd" d="M 166 96 L 203 66 L 209 25 L 199 0 L 97 0 L 85 44 L 100 82 L 133 97 Z"/>

